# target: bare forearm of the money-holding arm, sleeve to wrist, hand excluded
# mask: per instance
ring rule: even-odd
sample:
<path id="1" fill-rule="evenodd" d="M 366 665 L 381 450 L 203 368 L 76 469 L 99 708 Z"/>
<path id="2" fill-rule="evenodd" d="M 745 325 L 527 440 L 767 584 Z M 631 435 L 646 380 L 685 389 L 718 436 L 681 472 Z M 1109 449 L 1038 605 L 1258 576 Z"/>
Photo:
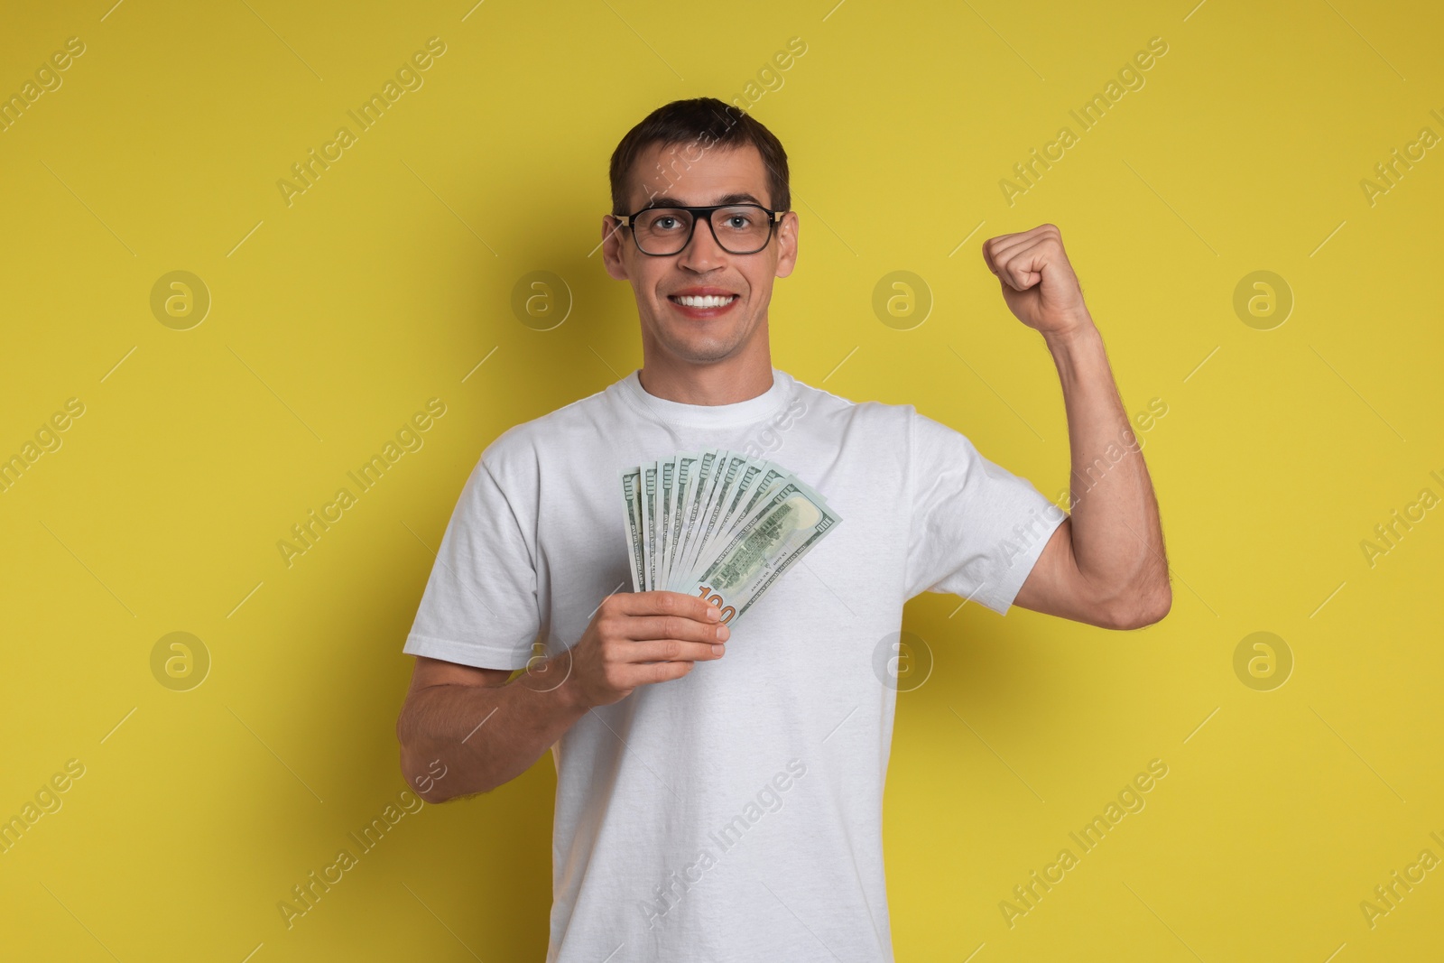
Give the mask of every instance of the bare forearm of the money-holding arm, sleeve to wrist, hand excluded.
<path id="1" fill-rule="evenodd" d="M 556 683 L 566 667 L 563 653 L 539 667 L 544 671 L 501 686 L 438 684 L 414 692 L 396 726 L 407 783 L 427 803 L 443 803 L 526 772 L 586 713 L 575 687 Z"/>

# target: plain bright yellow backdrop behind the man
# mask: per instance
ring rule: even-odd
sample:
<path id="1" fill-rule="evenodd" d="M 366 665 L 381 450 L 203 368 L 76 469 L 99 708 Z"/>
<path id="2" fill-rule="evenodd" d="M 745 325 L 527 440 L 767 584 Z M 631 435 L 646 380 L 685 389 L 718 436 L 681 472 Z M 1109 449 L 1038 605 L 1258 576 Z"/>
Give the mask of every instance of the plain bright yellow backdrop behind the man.
<path id="1" fill-rule="evenodd" d="M 801 217 L 780 368 L 914 403 L 1054 497 L 1057 377 L 979 254 L 1054 222 L 1125 406 L 1168 406 L 1144 435 L 1164 622 L 907 609 L 936 666 L 900 696 L 885 801 L 898 959 L 1437 957 L 1444 869 L 1373 928 L 1359 904 L 1444 858 L 1444 513 L 1373 567 L 1359 543 L 1444 495 L 1444 156 L 1372 206 L 1359 182 L 1444 134 L 1440 13 L 833 3 L 10 4 L 0 92 L 85 53 L 0 133 L 0 455 L 85 414 L 0 494 L 0 816 L 85 775 L 0 855 L 7 959 L 542 959 L 546 757 L 406 816 L 293 928 L 276 904 L 406 788 L 400 650 L 481 449 L 641 362 L 589 256 L 611 150 L 669 100 L 742 95 L 793 36 L 752 108 Z M 425 85 L 287 206 L 290 165 L 432 36 Z M 1147 85 L 1009 206 L 999 179 L 1154 36 Z M 172 270 L 211 292 L 189 331 L 150 310 Z M 553 331 L 510 308 L 534 270 L 575 297 Z M 892 270 L 936 299 L 911 331 L 872 313 Z M 1256 270 L 1294 292 L 1272 331 L 1232 308 Z M 287 569 L 276 541 L 430 397 L 425 448 Z M 189 692 L 150 668 L 175 631 L 211 655 Z M 1255 631 L 1295 660 L 1271 692 L 1233 671 Z M 1147 809 L 1009 928 L 999 901 L 1154 758 Z"/>

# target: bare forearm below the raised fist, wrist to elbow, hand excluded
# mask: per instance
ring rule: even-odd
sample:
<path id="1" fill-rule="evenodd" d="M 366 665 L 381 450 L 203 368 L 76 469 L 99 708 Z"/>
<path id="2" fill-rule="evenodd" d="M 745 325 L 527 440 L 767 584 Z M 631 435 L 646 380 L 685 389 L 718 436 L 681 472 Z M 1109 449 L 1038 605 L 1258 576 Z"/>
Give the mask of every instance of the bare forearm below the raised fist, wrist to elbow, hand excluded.
<path id="1" fill-rule="evenodd" d="M 1100 602 L 1167 612 L 1168 566 L 1158 502 L 1103 338 L 1092 321 L 1071 334 L 1045 338 L 1067 410 L 1070 527 L 1079 573 Z"/>

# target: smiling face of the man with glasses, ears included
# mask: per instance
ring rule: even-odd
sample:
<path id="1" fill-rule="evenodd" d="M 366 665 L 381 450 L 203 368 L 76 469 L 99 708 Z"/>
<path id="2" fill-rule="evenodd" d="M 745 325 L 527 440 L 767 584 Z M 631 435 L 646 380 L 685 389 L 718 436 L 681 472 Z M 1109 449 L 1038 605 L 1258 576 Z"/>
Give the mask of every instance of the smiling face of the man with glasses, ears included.
<path id="1" fill-rule="evenodd" d="M 771 209 L 767 166 L 757 147 L 702 150 L 699 144 L 653 144 L 632 169 L 627 212 L 744 202 Z M 617 230 L 617 219 L 609 215 L 602 218 L 602 235 L 606 273 L 630 280 L 637 296 L 648 355 L 664 351 L 692 364 L 722 361 L 760 338 L 765 341 L 773 279 L 791 274 L 797 261 L 794 212 L 783 215 L 767 247 L 755 254 L 726 253 L 703 219 L 697 219 L 687 245 L 667 257 L 643 254 L 631 231 Z M 706 295 L 731 300 L 716 308 L 679 300 Z"/>

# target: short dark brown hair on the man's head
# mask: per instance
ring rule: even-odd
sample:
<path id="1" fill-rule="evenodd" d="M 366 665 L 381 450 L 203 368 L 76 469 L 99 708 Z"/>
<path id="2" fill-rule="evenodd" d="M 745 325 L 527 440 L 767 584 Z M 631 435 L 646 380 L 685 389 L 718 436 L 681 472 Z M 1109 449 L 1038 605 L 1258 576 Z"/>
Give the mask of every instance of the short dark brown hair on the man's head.
<path id="1" fill-rule="evenodd" d="M 674 100 L 651 111 L 617 144 L 611 163 L 614 214 L 631 214 L 628 178 L 637 157 L 653 144 L 664 147 L 684 144 L 686 150 L 674 152 L 670 162 L 671 170 L 677 170 L 680 163 L 682 172 L 713 147 L 735 149 L 751 144 L 762 154 L 773 209 L 787 211 L 793 204 L 791 189 L 787 185 L 787 152 L 773 131 L 732 104 L 723 104 L 715 97 L 695 97 Z M 702 153 L 690 156 L 697 147 Z M 677 172 L 679 176 L 682 172 Z M 671 180 L 670 172 L 663 173 Z"/>

